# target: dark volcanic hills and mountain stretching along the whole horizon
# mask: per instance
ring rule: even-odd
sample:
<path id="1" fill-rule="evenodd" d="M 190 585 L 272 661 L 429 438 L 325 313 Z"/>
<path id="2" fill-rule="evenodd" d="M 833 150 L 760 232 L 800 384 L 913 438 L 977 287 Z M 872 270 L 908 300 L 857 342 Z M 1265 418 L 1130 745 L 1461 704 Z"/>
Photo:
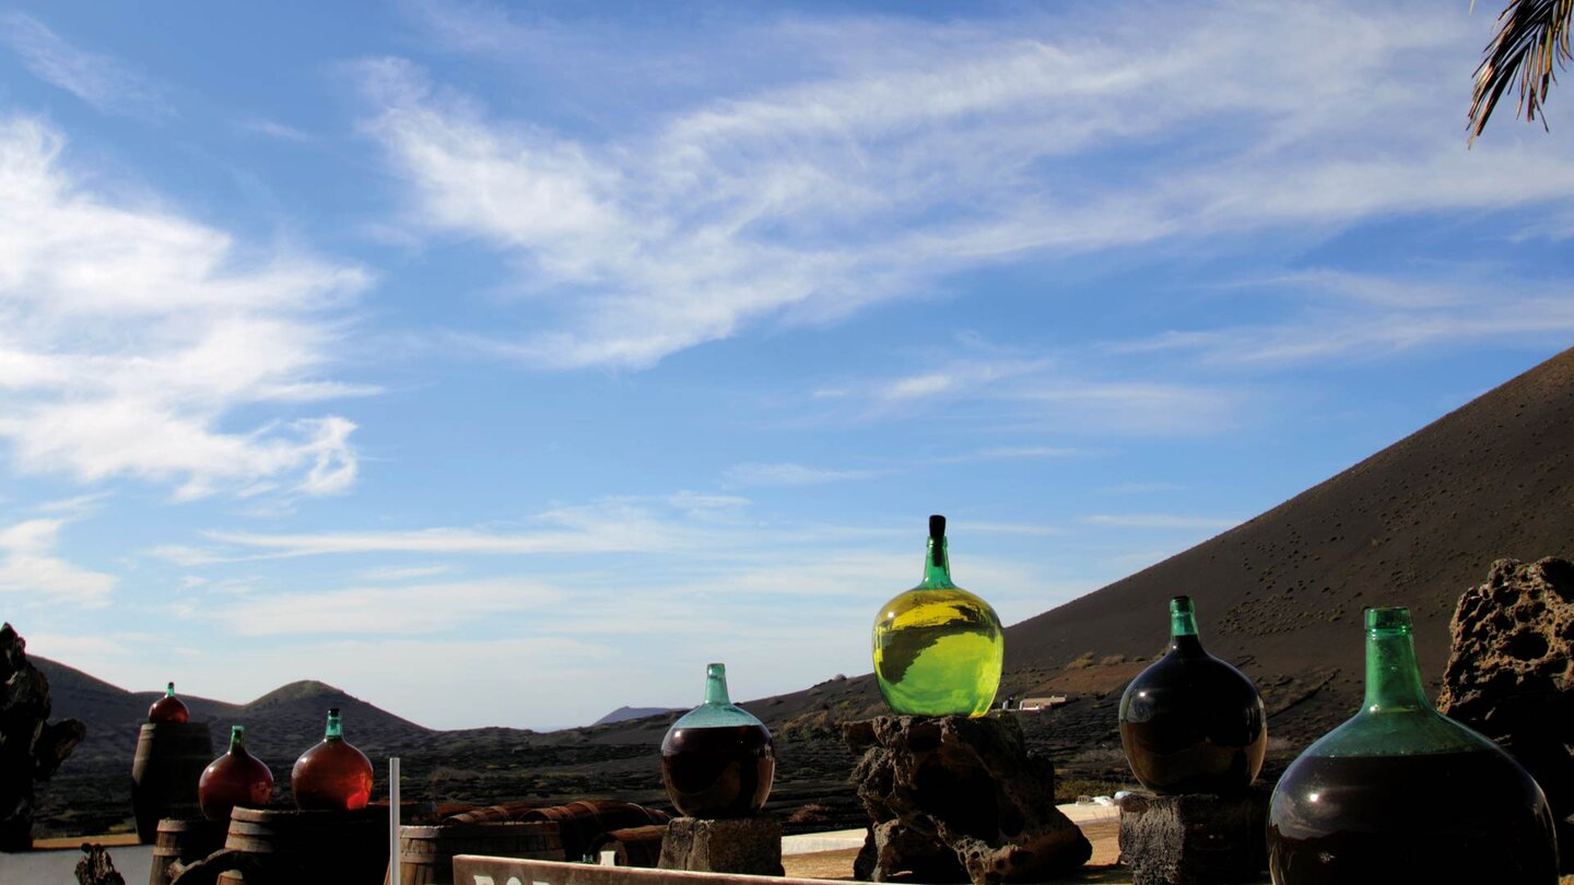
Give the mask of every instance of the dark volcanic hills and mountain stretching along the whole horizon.
<path id="1" fill-rule="evenodd" d="M 1454 602 L 1486 578 L 1494 559 L 1574 557 L 1571 441 L 1574 350 L 1248 523 L 1012 625 L 1001 696 L 1069 696 L 1053 713 L 1022 715 L 1029 743 L 1051 751 L 1073 776 L 1125 779 L 1119 693 L 1168 642 L 1166 600 L 1187 594 L 1196 600 L 1204 644 L 1262 688 L 1270 753 L 1283 765 L 1360 702 L 1363 606 L 1412 609 L 1421 666 L 1435 687 Z M 137 724 L 157 694 L 132 694 L 50 661 L 39 666 L 54 688 L 55 717 L 82 718 L 90 729 L 61 772 L 66 783 L 50 794 L 69 794 L 72 778 L 83 789 L 105 778 L 123 783 Z M 406 795 L 466 802 L 619 795 L 661 803 L 656 751 L 680 715 L 551 734 L 433 732 L 316 682 L 244 705 L 186 701 L 194 718 L 214 723 L 216 751 L 225 726 L 247 724 L 252 748 L 282 775 L 280 789 L 294 756 L 321 737 L 326 709 L 337 705 L 349 739 L 368 754 L 406 757 L 406 779 L 420 778 L 405 784 Z M 743 705 L 778 740 L 771 809 L 803 809 L 807 816 L 793 820 L 822 828 L 853 825 L 844 819 L 853 808 L 845 786 L 853 761 L 837 723 L 885 709 L 874 677 L 837 677 Z M 72 820 L 69 813 L 55 820 L 98 822 Z"/>

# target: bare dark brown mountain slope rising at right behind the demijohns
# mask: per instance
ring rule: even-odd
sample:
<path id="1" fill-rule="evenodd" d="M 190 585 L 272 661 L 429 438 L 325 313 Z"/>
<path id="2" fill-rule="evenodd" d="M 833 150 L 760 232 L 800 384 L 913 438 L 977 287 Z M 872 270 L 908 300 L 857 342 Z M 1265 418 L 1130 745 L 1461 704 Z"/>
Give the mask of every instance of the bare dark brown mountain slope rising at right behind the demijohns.
<path id="1" fill-rule="evenodd" d="M 1435 688 L 1454 602 L 1494 559 L 1571 554 L 1574 350 L 1236 529 L 1011 627 L 1006 668 L 1018 694 L 1114 691 L 1166 641 L 1166 600 L 1187 594 L 1209 649 L 1269 690 L 1270 726 L 1305 742 L 1360 702 L 1363 606 L 1412 609 Z"/>

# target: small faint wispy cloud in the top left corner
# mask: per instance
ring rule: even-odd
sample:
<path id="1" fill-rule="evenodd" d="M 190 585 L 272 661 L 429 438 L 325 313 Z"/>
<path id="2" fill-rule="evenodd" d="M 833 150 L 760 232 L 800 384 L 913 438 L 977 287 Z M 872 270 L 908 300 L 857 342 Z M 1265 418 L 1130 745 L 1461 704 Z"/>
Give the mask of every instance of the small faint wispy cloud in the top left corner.
<path id="1" fill-rule="evenodd" d="M 35 77 L 60 87 L 101 113 L 170 117 L 175 109 L 151 77 L 123 61 L 71 46 L 44 22 L 24 13 L 0 13 L 0 43 L 11 47 Z"/>

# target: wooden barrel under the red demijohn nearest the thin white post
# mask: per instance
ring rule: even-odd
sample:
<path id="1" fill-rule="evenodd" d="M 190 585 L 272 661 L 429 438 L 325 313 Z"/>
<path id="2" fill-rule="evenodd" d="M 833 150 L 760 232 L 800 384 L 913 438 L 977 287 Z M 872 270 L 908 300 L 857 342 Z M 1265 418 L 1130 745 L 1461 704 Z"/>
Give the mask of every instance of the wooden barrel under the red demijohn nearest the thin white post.
<path id="1" fill-rule="evenodd" d="M 236 808 L 230 813 L 224 847 L 250 855 L 266 880 L 381 885 L 389 868 L 387 806 L 360 811 Z"/>

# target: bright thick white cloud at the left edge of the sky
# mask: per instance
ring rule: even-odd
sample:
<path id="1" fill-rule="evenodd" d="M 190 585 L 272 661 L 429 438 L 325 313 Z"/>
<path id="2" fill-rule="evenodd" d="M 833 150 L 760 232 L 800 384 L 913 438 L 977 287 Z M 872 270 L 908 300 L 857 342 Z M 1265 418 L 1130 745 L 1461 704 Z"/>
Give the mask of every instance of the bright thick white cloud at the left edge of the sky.
<path id="1" fill-rule="evenodd" d="M 220 427 L 241 406 L 371 392 L 320 376 L 367 274 L 96 194 L 63 150 L 36 120 L 0 120 L 0 438 L 13 463 L 173 483 L 178 499 L 348 488 L 345 417 Z"/>

